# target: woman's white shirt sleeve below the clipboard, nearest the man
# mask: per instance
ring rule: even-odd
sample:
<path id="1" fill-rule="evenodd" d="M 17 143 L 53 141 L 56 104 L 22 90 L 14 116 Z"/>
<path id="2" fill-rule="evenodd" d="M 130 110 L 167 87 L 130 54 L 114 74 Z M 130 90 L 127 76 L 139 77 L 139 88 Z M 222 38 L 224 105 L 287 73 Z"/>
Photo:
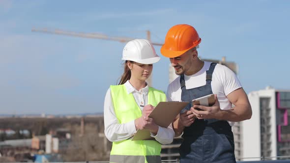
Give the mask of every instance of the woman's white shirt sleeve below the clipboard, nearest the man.
<path id="1" fill-rule="evenodd" d="M 168 128 L 163 128 L 158 126 L 158 132 L 157 135 L 155 136 L 154 134 L 151 133 L 151 137 L 154 137 L 160 144 L 170 144 L 173 142 L 174 138 L 174 130 L 172 127 L 172 124 L 168 126 Z"/>

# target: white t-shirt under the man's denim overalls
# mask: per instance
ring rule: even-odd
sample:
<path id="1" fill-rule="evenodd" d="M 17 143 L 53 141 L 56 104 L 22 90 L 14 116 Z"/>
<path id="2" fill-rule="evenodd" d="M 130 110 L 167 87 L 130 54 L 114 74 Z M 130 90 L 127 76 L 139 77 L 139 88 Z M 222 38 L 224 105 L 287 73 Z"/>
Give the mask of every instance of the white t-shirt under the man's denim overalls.
<path id="1" fill-rule="evenodd" d="M 211 62 L 204 61 L 203 68 L 194 75 L 184 75 L 186 89 L 192 89 L 205 85 L 206 71 L 209 69 Z M 217 64 L 212 74 L 211 89 L 212 93 L 217 95 L 220 108 L 223 110 L 232 109 L 232 103 L 227 95 L 232 91 L 242 87 L 236 75 L 228 67 Z M 181 101 L 180 76 L 172 81 L 167 88 L 168 101 Z M 231 126 L 234 122 L 230 122 Z"/>

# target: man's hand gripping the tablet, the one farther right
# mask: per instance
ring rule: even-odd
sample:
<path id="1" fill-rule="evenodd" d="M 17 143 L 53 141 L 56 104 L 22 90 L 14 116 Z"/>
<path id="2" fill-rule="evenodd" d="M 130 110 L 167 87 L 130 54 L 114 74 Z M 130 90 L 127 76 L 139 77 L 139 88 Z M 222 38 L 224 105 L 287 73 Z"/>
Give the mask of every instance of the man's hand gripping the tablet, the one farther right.
<path id="1" fill-rule="evenodd" d="M 221 108 L 216 94 L 214 95 L 214 98 L 215 103 L 213 106 L 205 107 L 201 105 L 194 105 L 193 107 L 191 107 L 191 111 L 196 115 L 198 119 L 221 119 Z"/>

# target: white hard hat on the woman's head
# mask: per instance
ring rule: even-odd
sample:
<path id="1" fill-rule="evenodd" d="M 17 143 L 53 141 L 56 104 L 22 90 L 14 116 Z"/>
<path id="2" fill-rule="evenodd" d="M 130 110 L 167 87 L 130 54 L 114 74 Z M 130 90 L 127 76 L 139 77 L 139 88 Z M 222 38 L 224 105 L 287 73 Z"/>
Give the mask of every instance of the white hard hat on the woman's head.
<path id="1" fill-rule="evenodd" d="M 153 45 L 145 39 L 129 41 L 124 49 L 122 60 L 131 60 L 142 64 L 152 64 L 160 60 Z"/>

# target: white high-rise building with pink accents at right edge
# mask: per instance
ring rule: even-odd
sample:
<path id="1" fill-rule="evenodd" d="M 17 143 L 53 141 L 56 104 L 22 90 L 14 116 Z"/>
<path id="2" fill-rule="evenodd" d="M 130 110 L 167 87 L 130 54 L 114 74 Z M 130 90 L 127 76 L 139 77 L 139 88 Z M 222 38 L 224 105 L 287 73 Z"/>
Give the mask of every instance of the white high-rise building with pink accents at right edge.
<path id="1" fill-rule="evenodd" d="M 241 122 L 241 158 L 290 156 L 290 90 L 266 87 L 248 97 L 253 115 Z M 261 159 L 242 161 L 249 160 Z"/>

